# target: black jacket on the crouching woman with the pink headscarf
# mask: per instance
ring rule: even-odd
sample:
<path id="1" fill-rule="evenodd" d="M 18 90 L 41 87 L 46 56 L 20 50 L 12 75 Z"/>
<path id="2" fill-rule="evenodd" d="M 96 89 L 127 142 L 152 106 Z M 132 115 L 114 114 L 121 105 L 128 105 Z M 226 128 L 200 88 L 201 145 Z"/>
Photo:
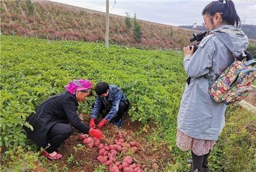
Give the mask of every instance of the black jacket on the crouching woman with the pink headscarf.
<path id="1" fill-rule="evenodd" d="M 56 123 L 70 123 L 80 132 L 88 134 L 90 128 L 77 115 L 78 105 L 75 95 L 67 91 L 49 97 L 36 108 L 36 113 L 28 116 L 27 121 L 34 128 L 31 131 L 30 128 L 23 126 L 28 138 L 36 145 L 46 148 L 49 141 L 47 133 Z"/>

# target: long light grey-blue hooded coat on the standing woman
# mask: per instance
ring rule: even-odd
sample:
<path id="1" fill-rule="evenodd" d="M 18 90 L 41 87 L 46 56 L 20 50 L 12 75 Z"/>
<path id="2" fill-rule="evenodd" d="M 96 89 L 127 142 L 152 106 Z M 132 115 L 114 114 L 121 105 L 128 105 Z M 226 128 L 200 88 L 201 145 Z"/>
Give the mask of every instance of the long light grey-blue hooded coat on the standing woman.
<path id="1" fill-rule="evenodd" d="M 217 140 L 225 125 L 224 103 L 215 103 L 208 94 L 209 73 L 212 79 L 224 72 L 248 46 L 247 36 L 235 26 L 214 28 L 200 42 L 191 56 L 184 58 L 184 68 L 191 77 L 185 86 L 177 116 L 177 128 L 188 136 L 202 140 Z M 232 53 L 231 53 L 232 52 Z"/>

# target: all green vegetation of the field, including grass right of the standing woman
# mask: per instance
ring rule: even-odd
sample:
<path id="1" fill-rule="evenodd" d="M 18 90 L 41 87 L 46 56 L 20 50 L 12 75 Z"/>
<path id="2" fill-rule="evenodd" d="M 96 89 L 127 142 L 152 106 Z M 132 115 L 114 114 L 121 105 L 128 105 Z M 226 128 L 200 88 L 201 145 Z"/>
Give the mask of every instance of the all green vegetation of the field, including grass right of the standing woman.
<path id="1" fill-rule="evenodd" d="M 84 78 L 94 85 L 107 81 L 120 86 L 132 104 L 131 120 L 154 126 L 148 140 L 167 144 L 174 155 L 175 163 L 166 171 L 187 169 L 189 152 L 175 147 L 176 116 L 186 79 L 182 53 L 120 46 L 105 49 L 104 44 L 81 41 L 0 39 L 1 148 L 25 148 L 28 141 L 22 125 L 27 125 L 26 116 L 42 100 L 63 91 L 72 79 Z M 93 100 L 80 104 L 80 110 L 89 113 Z M 226 117 L 224 132 L 210 156 L 213 171 L 255 170 L 255 114 L 230 106 Z"/>

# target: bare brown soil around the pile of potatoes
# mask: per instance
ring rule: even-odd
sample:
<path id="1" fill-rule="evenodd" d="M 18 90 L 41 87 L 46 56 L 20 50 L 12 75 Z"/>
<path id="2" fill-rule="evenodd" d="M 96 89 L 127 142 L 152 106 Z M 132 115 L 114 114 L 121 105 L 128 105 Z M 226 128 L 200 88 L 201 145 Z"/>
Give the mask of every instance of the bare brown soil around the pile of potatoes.
<path id="1" fill-rule="evenodd" d="M 81 116 L 82 118 L 89 119 L 89 116 L 87 115 Z M 89 123 L 89 121 L 86 122 Z M 147 142 L 146 136 L 148 133 L 142 133 L 141 135 L 136 134 L 140 130 L 140 127 L 141 125 L 138 122 L 131 123 L 128 119 L 123 121 L 121 129 L 118 129 L 113 124 L 107 124 L 102 128 L 102 132 L 106 138 L 101 142 L 104 144 L 113 144 L 114 139 L 117 139 L 118 137 L 118 133 L 122 132 L 126 141 L 138 141 L 141 146 L 136 153 L 119 153 L 117 155 L 118 161 L 122 161 L 122 158 L 129 154 L 133 156 L 135 163 L 141 163 L 144 171 L 163 171 L 168 162 L 173 162 L 173 158 L 170 152 L 168 152 L 167 145 L 155 145 L 154 143 Z M 68 171 L 72 172 L 90 172 L 97 169 L 101 164 L 97 161 L 99 150 L 97 147 L 94 146 L 93 149 L 90 149 L 88 145 L 85 145 L 81 150 L 75 150 L 75 148 L 78 148 L 77 144 L 82 144 L 82 142 L 78 140 L 80 134 L 81 133 L 75 130 L 72 136 L 69 137 L 69 139 L 65 141 L 65 144 L 59 149 L 64 156 L 60 160 L 49 161 L 49 163 L 57 163 L 60 171 L 63 167 L 68 167 Z M 74 157 L 72 162 L 70 162 L 71 154 Z M 106 167 L 105 171 L 109 171 L 109 167 Z"/>

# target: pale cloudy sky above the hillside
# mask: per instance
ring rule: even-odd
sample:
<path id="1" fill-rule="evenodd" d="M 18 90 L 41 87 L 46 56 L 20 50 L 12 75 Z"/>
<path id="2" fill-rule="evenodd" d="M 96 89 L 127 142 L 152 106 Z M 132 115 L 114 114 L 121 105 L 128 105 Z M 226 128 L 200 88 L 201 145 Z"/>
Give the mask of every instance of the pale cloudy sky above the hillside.
<path id="1" fill-rule="evenodd" d="M 105 0 L 51 0 L 68 5 L 84 7 L 97 11 L 106 11 Z M 201 11 L 211 1 L 156 1 L 156 0 L 109 0 L 111 14 L 125 16 L 129 12 L 131 16 L 136 13 L 138 19 L 172 26 L 191 25 L 192 23 L 203 23 Z M 256 25 L 256 0 L 233 1 L 238 15 L 243 24 Z"/>

